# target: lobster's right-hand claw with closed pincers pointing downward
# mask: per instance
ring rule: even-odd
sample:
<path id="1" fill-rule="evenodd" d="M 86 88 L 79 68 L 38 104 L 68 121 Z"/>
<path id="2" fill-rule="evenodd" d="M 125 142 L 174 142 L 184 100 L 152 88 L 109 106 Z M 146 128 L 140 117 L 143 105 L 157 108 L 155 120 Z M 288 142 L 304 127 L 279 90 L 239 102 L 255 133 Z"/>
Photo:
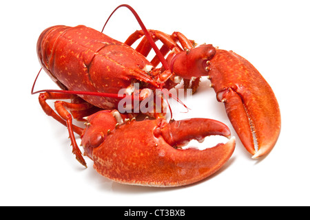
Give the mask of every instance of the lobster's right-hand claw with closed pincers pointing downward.
<path id="1" fill-rule="evenodd" d="M 209 79 L 252 158 L 267 155 L 278 140 L 281 119 L 276 96 L 266 80 L 249 61 L 226 50 L 216 50 Z"/>

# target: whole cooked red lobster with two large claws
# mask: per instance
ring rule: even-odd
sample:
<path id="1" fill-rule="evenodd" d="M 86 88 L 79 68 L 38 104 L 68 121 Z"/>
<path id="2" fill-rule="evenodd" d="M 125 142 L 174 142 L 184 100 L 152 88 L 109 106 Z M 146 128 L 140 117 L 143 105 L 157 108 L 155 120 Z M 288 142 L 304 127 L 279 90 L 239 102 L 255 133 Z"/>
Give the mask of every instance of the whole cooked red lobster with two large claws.
<path id="1" fill-rule="evenodd" d="M 123 6 L 134 13 L 142 28 L 125 43 L 83 25 L 48 28 L 37 43 L 41 66 L 63 89 L 37 91 L 41 92 L 39 102 L 45 113 L 68 126 L 76 159 L 86 166 L 74 132 L 81 135 L 85 155 L 94 160 L 94 168 L 114 181 L 182 186 L 216 172 L 231 157 L 236 144 L 225 124 L 204 118 L 167 122 L 164 113 L 149 113 L 156 120 L 138 122 L 132 115 L 113 110 L 120 102 L 120 89 L 145 100 L 152 96 L 150 91 L 171 89 L 182 78 L 185 88 L 196 91 L 200 76 L 211 80 L 247 150 L 254 158 L 267 155 L 280 133 L 280 110 L 271 87 L 255 67 L 233 52 L 212 45 L 196 47 L 180 32 L 168 35 L 147 30 L 129 5 L 118 8 Z M 130 46 L 142 36 L 136 50 L 132 49 Z M 154 43 L 157 40 L 163 43 L 160 50 Z M 152 48 L 156 56 L 149 62 L 145 57 Z M 156 68 L 159 63 L 163 67 Z M 33 89 L 32 94 L 37 93 Z M 47 104 L 48 99 L 72 102 L 56 101 L 57 114 Z M 86 120 L 85 129 L 72 124 L 72 118 Z M 203 151 L 180 149 L 189 140 L 207 135 L 230 140 Z"/>

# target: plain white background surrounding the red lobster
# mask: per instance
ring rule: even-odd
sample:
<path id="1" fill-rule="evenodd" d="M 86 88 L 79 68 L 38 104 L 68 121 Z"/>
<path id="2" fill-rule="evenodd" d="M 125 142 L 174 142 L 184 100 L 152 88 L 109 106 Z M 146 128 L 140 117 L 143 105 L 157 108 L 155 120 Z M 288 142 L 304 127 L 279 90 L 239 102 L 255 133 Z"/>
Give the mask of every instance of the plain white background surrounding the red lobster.
<path id="1" fill-rule="evenodd" d="M 282 130 L 273 151 L 253 160 L 240 141 L 229 162 L 192 186 L 148 188 L 112 182 L 83 168 L 64 126 L 43 113 L 30 89 L 40 65 L 39 34 L 52 25 L 101 30 L 128 3 L 149 29 L 183 32 L 244 56 L 273 88 Z M 307 1 L 4 1 L 1 3 L 0 205 L 29 206 L 309 206 L 309 5 Z M 105 34 L 124 41 L 140 29 L 121 8 Z M 209 82 L 189 113 L 229 123 Z M 44 72 L 36 90 L 56 88 Z M 233 131 L 234 133 L 234 131 Z M 234 133 L 236 135 L 236 133 Z"/>

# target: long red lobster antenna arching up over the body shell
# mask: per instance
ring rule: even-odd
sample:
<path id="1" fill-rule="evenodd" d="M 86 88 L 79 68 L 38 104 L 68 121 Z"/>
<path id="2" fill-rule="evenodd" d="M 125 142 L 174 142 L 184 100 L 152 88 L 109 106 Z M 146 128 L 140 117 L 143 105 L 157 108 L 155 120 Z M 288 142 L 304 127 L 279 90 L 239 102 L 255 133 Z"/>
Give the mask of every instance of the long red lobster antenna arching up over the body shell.
<path id="1" fill-rule="evenodd" d="M 134 14 L 134 17 L 136 18 L 136 21 L 138 21 L 140 27 L 142 28 L 142 30 L 144 32 L 144 36 L 147 38 L 147 41 L 149 41 L 149 44 L 152 46 L 154 52 L 156 53 L 156 55 L 158 56 L 159 60 L 161 61 L 161 64 L 163 65 L 163 67 L 166 70 L 169 69 L 169 65 L 168 65 L 165 57 L 163 56 L 163 54 L 161 54 L 161 52 L 158 49 L 156 43 L 153 41 L 152 36 L 149 35 L 149 32 L 147 31 L 147 29 L 145 28 L 145 25 L 143 24 L 142 20 L 138 16 L 138 13 L 134 10 L 134 8 L 132 8 L 132 6 L 126 5 L 126 4 L 118 5 L 118 7 L 112 12 L 112 14 L 114 14 L 114 12 L 116 12 L 116 10 L 118 10 L 118 8 L 121 8 L 121 7 L 128 8 L 132 12 L 132 14 Z M 110 14 L 110 17 L 107 19 L 107 21 L 105 21 L 105 25 L 107 25 L 107 22 L 112 17 L 112 14 Z M 105 29 L 105 25 L 103 26 L 103 29 L 102 29 L 101 32 L 103 32 L 103 30 Z"/>

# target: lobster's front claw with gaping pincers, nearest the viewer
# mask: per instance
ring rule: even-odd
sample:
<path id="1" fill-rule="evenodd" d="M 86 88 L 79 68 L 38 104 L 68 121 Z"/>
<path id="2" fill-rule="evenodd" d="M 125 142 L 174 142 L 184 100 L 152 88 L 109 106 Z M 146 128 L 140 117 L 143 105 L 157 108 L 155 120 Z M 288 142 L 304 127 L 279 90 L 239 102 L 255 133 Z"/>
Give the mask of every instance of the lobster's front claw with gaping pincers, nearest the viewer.
<path id="1" fill-rule="evenodd" d="M 100 112 L 96 114 L 87 129 L 97 126 Z M 92 140 L 90 136 L 97 136 L 99 132 L 94 129 L 87 132 L 87 129 L 82 137 L 84 148 L 90 144 L 86 146 L 87 141 L 83 139 Z M 92 148 L 94 168 L 101 175 L 123 184 L 160 187 L 192 184 L 215 173 L 234 152 L 234 137 L 226 144 L 203 151 L 174 148 L 207 135 L 230 137 L 230 131 L 225 124 L 204 118 L 171 123 L 163 119 L 126 120 L 111 130 L 99 146 Z"/>

